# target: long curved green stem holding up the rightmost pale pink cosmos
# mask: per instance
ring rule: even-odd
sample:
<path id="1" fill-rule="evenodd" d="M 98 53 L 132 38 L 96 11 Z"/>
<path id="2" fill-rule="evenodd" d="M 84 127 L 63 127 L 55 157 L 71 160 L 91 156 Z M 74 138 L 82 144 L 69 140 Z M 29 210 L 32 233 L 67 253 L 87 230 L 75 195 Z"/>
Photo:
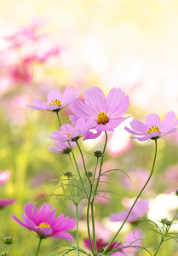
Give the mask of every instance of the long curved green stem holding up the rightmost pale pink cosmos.
<path id="1" fill-rule="evenodd" d="M 141 196 L 143 190 L 146 188 L 147 183 L 149 183 L 149 181 L 150 181 L 150 179 L 151 179 L 151 177 L 152 177 L 152 173 L 153 173 L 153 171 L 154 171 L 154 166 L 155 166 L 156 158 L 157 158 L 157 139 L 155 140 L 155 154 L 154 154 L 154 159 L 153 159 L 153 162 L 152 162 L 152 171 L 151 171 L 151 173 L 150 173 L 150 176 L 148 177 L 148 179 L 147 179 L 145 185 L 143 186 L 143 188 L 141 189 L 141 192 L 139 193 L 139 195 L 137 195 L 137 197 L 136 197 L 136 199 L 135 199 L 135 201 L 134 201 L 132 207 L 129 209 L 129 212 L 128 212 L 126 218 L 124 219 L 123 224 L 120 226 L 120 228 L 119 228 L 119 230 L 117 231 L 116 235 L 112 238 L 112 240 L 110 241 L 110 243 L 108 244 L 108 246 L 105 248 L 105 250 L 103 251 L 103 253 L 106 253 L 106 252 L 107 252 L 107 250 L 108 250 L 108 248 L 111 246 L 112 242 L 113 242 L 113 241 L 115 240 L 115 238 L 118 236 L 118 233 L 120 232 L 120 230 L 123 229 L 123 225 L 126 223 L 127 219 L 129 218 L 130 212 L 132 212 L 132 209 L 135 207 L 135 203 L 136 203 L 136 202 L 138 201 L 138 199 L 140 198 L 140 196 Z"/>

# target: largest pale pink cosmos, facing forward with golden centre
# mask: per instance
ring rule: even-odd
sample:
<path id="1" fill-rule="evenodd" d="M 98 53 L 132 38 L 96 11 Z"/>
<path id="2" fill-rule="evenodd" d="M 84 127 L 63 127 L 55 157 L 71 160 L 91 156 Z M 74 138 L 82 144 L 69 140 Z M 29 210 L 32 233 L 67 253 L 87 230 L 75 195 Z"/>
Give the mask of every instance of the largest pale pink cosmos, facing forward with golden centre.
<path id="1" fill-rule="evenodd" d="M 98 87 L 84 92 L 84 102 L 76 99 L 69 106 L 72 113 L 83 119 L 92 118 L 91 128 L 96 131 L 113 131 L 127 117 L 120 117 L 129 108 L 129 96 L 120 88 L 112 88 L 105 96 Z M 73 121 L 75 117 L 71 117 Z"/>

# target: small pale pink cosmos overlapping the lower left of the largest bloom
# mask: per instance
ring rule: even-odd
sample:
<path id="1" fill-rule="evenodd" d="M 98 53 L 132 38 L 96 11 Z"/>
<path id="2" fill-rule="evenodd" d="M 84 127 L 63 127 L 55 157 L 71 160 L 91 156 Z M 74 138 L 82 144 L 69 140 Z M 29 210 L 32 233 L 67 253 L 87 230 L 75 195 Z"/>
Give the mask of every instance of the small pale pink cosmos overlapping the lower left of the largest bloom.
<path id="1" fill-rule="evenodd" d="M 76 141 L 80 137 L 85 137 L 86 133 L 89 131 L 91 126 L 92 119 L 78 119 L 76 122 L 75 127 L 72 125 L 66 124 L 61 125 L 61 131 L 53 131 L 52 132 L 52 139 L 58 140 L 60 142 L 66 141 Z"/>

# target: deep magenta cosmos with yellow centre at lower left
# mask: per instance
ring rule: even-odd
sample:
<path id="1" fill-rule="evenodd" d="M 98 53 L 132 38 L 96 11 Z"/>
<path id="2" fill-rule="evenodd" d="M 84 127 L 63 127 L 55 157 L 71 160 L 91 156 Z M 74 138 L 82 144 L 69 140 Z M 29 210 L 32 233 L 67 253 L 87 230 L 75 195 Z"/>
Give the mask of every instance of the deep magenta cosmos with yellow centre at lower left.
<path id="1" fill-rule="evenodd" d="M 64 214 L 55 218 L 55 212 L 55 208 L 51 211 L 51 204 L 47 206 L 46 203 L 43 203 L 37 211 L 36 205 L 30 202 L 25 206 L 25 214 L 21 214 L 23 222 L 14 214 L 11 217 L 26 229 L 36 232 L 41 238 L 58 237 L 73 241 L 73 237 L 66 231 L 72 230 L 76 226 L 76 219 L 64 217 Z"/>

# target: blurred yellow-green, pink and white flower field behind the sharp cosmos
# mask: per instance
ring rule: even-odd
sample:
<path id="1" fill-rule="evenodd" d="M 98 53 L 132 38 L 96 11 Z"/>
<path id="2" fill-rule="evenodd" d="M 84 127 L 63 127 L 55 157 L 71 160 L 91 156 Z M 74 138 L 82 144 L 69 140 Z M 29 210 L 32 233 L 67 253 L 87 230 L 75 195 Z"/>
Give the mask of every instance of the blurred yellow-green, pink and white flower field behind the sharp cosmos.
<path id="1" fill-rule="evenodd" d="M 0 239 L 12 236 L 11 255 L 35 255 L 37 239 L 10 218 L 20 218 L 28 202 L 51 203 L 58 215 L 75 218 L 75 206 L 67 201 L 62 183 L 72 171 L 64 154 L 49 150 L 59 130 L 55 114 L 32 110 L 34 98 L 47 101 L 50 90 L 72 86 L 83 91 L 98 86 L 106 95 L 112 87 L 129 95 L 129 119 L 108 134 L 103 170 L 121 169 L 102 177 L 102 195 L 95 201 L 96 235 L 109 241 L 120 222 L 111 214 L 128 208 L 141 190 L 152 168 L 152 143 L 129 139 L 123 130 L 134 119 L 173 111 L 178 116 L 178 3 L 173 0 L 76 0 L 1 1 L 0 9 Z M 61 113 L 63 123 L 71 114 Z M 104 137 L 82 142 L 90 171 L 94 150 L 101 150 Z M 74 149 L 79 166 L 82 161 Z M 178 207 L 178 132 L 158 140 L 158 160 L 151 182 L 141 198 L 148 201 L 144 214 L 160 224 L 172 218 Z M 2 177 L 1 177 L 2 175 Z M 66 191 L 67 193 L 67 191 Z M 106 200 L 106 198 L 109 200 Z M 143 211 L 143 207 L 138 211 Z M 81 245 L 87 237 L 86 203 L 79 206 Z M 175 220 L 176 222 L 176 220 Z M 118 241 L 125 241 L 132 221 L 124 226 Z M 140 226 L 140 225 L 139 225 Z M 146 247 L 158 243 L 152 225 L 141 224 Z M 171 229 L 178 232 L 178 225 Z M 71 234 L 75 238 L 76 230 Z M 61 239 L 43 241 L 40 255 L 54 255 Z M 0 252 L 4 251 L 0 241 Z M 54 247 L 48 252 L 49 248 Z M 85 247 L 86 249 L 86 247 Z M 87 249 L 86 249 L 87 250 Z M 152 249 L 151 249 L 152 250 Z M 129 254 L 132 255 L 132 254 Z M 134 255 L 134 254 L 133 254 Z M 137 253 L 136 255 L 141 255 Z M 143 254 L 143 255 L 148 255 Z M 158 255 L 178 255 L 176 241 L 167 241 Z"/>

